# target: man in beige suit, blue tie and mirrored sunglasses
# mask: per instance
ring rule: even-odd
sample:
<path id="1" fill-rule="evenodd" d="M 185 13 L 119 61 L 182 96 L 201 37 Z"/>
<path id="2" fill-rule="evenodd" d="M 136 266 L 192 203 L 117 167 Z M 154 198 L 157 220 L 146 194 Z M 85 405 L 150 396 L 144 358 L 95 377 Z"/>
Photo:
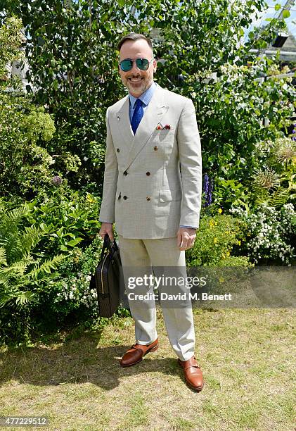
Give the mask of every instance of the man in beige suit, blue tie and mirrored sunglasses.
<path id="1" fill-rule="evenodd" d="M 191 99 L 153 82 L 157 63 L 150 39 L 131 33 L 118 44 L 119 73 L 129 95 L 106 113 L 107 148 L 100 235 L 114 239 L 116 224 L 127 287 L 133 268 L 172 268 L 186 273 L 185 250 L 199 224 L 202 166 L 198 126 Z M 182 272 L 183 270 L 183 272 Z M 134 293 L 151 292 L 136 286 Z M 131 290 L 129 290 L 131 292 Z M 136 344 L 120 365 L 133 366 L 158 348 L 153 299 L 133 301 Z M 200 391 L 195 361 L 192 307 L 162 306 L 169 342 L 188 385 Z"/>

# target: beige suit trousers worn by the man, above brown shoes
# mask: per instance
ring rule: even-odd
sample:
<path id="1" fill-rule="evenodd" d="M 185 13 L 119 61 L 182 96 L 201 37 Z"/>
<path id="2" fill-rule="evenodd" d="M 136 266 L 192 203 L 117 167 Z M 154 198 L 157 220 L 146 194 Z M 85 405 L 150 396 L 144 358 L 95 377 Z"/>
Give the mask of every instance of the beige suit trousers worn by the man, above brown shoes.
<path id="1" fill-rule="evenodd" d="M 124 285 L 129 298 L 131 316 L 135 320 L 136 343 L 150 344 L 157 338 L 155 299 L 134 300 L 132 294 L 153 294 L 153 285 L 129 287 L 129 277 L 144 277 L 154 273 L 158 277 L 186 277 L 185 251 L 180 251 L 176 237 L 162 239 L 129 239 L 118 235 Z M 184 287 L 158 287 L 159 292 L 184 292 Z M 181 290 L 180 290 L 181 289 Z M 184 290 L 182 290 L 184 289 Z M 194 355 L 195 332 L 191 301 L 162 301 L 162 313 L 172 349 L 181 361 Z"/>

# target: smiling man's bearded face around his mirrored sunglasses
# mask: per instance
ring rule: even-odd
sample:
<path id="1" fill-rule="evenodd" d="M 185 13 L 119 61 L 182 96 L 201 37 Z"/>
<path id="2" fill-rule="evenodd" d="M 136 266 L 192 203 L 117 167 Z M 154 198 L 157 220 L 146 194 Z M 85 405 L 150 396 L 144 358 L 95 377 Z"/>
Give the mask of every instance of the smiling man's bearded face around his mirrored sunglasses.
<path id="1" fill-rule="evenodd" d="M 148 61 L 153 59 L 153 54 L 150 46 L 145 39 L 139 40 L 127 40 L 124 42 L 120 49 L 120 61 L 125 58 L 147 58 Z M 150 87 L 153 82 L 153 73 L 156 70 L 156 60 L 153 59 L 149 64 L 147 70 L 140 70 L 136 63 L 133 63 L 133 67 L 128 72 L 124 72 L 119 68 L 120 77 L 125 87 L 129 89 L 129 92 L 134 97 L 139 97 L 143 92 Z"/>

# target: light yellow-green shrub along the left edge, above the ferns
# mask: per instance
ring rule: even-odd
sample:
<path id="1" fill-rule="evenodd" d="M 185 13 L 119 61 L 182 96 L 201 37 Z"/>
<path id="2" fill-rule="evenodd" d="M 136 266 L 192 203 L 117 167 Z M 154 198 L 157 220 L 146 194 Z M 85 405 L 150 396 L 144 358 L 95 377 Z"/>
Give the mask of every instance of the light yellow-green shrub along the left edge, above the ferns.
<path id="1" fill-rule="evenodd" d="M 51 140 L 56 127 L 44 106 L 34 106 L 20 91 L 20 78 L 6 77 L 4 65 L 23 56 L 21 28 L 15 17 L 0 28 L 0 194 L 28 198 L 40 187 L 52 187 L 54 159 L 40 144 Z"/>

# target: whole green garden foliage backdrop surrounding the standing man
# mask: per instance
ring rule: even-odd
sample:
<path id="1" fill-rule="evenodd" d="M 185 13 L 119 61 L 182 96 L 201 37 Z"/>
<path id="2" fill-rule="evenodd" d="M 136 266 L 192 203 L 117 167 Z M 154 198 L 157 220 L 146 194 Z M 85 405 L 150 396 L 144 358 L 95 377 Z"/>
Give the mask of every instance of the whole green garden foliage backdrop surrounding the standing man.
<path id="1" fill-rule="evenodd" d="M 295 143 L 285 137 L 295 87 L 290 78 L 258 80 L 280 72 L 278 59 L 250 53 L 264 49 L 285 22 L 273 18 L 239 43 L 265 6 L 264 0 L 0 0 L 0 336 L 6 343 L 30 343 L 55 325 L 97 317 L 89 277 L 101 251 L 105 111 L 127 94 L 116 49 L 127 32 L 153 38 L 161 58 L 155 80 L 195 104 L 203 172 L 214 190 L 186 252 L 188 266 L 260 262 L 246 252 L 246 220 L 256 218 L 262 203 L 280 218 L 296 189 Z M 27 93 L 6 70 L 22 58 L 30 65 Z M 250 217 L 229 214 L 238 206 Z M 266 217 L 266 225 L 272 220 Z M 294 215 L 285 225 L 292 232 Z M 287 262 L 295 258 L 293 242 L 295 235 L 278 239 Z M 264 262 L 272 263 L 268 253 Z"/>

